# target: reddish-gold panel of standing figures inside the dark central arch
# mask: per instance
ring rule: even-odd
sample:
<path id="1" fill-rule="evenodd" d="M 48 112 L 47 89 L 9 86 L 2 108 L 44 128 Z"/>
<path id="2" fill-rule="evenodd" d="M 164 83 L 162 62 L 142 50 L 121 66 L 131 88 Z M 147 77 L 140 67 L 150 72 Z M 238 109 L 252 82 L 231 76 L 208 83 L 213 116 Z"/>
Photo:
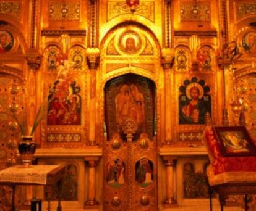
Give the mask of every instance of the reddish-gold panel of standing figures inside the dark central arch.
<path id="1" fill-rule="evenodd" d="M 116 123 L 122 126 L 124 120 L 132 118 L 138 123 L 138 128 L 145 122 L 144 96 L 134 83 L 123 84 L 115 97 Z"/>

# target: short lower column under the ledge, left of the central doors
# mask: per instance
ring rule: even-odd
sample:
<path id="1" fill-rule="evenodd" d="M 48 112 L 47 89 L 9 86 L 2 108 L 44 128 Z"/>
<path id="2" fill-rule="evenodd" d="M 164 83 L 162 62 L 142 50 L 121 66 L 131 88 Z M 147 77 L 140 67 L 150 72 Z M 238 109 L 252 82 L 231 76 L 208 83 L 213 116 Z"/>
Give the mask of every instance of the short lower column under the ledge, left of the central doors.
<path id="1" fill-rule="evenodd" d="M 98 202 L 95 199 L 95 167 L 98 164 L 98 157 L 85 157 L 85 161 L 88 162 L 89 165 L 89 173 L 88 173 L 88 199 L 85 202 L 85 207 L 90 209 L 90 207 L 94 207 L 98 205 Z"/>

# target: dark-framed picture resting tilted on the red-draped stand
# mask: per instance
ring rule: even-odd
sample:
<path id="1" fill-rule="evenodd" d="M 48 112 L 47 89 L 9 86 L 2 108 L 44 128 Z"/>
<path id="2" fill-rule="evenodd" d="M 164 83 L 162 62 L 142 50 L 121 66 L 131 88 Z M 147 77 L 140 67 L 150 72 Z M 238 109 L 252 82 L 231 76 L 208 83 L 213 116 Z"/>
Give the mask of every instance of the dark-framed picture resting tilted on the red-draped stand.
<path id="1" fill-rule="evenodd" d="M 223 157 L 256 155 L 255 143 L 244 126 L 215 126 L 213 131 Z"/>

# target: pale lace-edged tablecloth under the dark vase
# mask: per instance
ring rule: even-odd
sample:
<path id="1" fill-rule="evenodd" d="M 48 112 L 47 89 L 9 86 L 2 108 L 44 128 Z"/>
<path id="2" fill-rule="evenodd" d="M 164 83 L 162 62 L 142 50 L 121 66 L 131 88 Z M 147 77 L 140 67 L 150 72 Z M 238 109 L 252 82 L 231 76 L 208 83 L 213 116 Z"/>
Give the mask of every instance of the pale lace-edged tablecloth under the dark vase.
<path id="1" fill-rule="evenodd" d="M 60 165 L 15 165 L 0 171 L 0 182 L 46 184 L 47 174 Z"/>

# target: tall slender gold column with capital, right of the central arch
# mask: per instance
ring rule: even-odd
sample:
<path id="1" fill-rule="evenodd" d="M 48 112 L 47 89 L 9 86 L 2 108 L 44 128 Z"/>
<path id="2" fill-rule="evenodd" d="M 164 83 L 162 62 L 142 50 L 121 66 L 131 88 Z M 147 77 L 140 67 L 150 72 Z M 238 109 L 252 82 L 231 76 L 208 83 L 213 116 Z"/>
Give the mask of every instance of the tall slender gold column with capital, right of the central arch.
<path id="1" fill-rule="evenodd" d="M 162 49 L 162 65 L 164 68 L 165 77 L 165 142 L 166 144 L 171 144 L 172 140 L 172 124 L 171 124 L 171 85 L 173 84 L 173 75 L 171 73 L 171 68 L 174 64 L 174 49 L 163 48 Z"/>

